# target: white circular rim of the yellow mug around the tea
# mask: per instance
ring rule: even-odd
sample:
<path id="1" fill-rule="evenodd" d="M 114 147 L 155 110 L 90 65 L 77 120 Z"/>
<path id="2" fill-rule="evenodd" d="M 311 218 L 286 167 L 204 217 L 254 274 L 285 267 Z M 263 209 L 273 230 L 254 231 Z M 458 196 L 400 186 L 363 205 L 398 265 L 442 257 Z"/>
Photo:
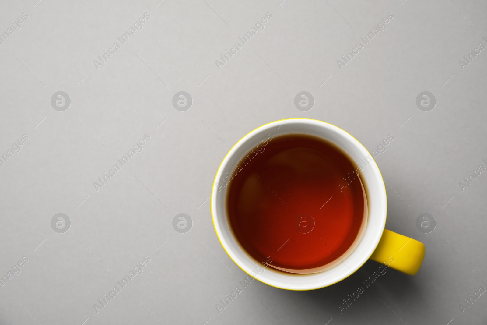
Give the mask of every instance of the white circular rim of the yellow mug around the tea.
<path id="1" fill-rule="evenodd" d="M 346 134 L 346 136 L 348 136 L 350 139 L 353 139 L 355 142 L 355 144 L 360 148 L 360 149 L 363 149 L 365 150 L 365 152 L 368 153 L 368 156 L 367 157 L 371 157 L 372 160 L 370 162 L 370 164 L 372 164 L 372 168 L 375 169 L 377 172 L 378 172 L 378 176 L 380 178 L 380 189 L 378 189 L 381 193 L 379 193 L 382 198 L 383 198 L 383 207 L 379 209 L 381 210 L 381 214 L 383 215 L 383 220 L 381 222 L 379 222 L 379 225 L 380 228 L 378 226 L 375 227 L 375 230 L 378 229 L 378 233 L 376 234 L 373 242 L 369 243 L 368 247 L 368 251 L 362 255 L 362 257 L 360 258 L 360 262 L 358 262 L 358 264 L 356 264 L 356 266 L 354 266 L 353 269 L 349 268 L 343 261 L 338 263 L 337 266 L 331 268 L 331 269 L 334 269 L 334 268 L 337 268 L 339 266 L 342 266 L 342 265 L 345 265 L 347 266 L 347 268 L 350 269 L 350 272 L 346 271 L 346 272 L 343 272 L 342 275 L 340 276 L 337 276 L 337 279 L 331 283 L 325 283 L 325 284 L 320 284 L 320 283 L 317 283 L 316 285 L 312 285 L 312 286 L 304 286 L 304 287 L 295 287 L 295 286 L 283 286 L 283 285 L 277 285 L 276 283 L 272 283 L 272 281 L 269 281 L 268 279 L 265 279 L 265 278 L 261 278 L 260 276 L 257 276 L 257 273 L 255 271 L 252 271 L 252 272 L 249 272 L 247 271 L 239 262 L 237 262 L 235 259 L 236 259 L 236 256 L 234 258 L 234 253 L 233 253 L 233 250 L 231 248 L 227 248 L 225 245 L 224 245 L 224 241 L 222 241 L 222 237 L 223 237 L 223 233 L 220 233 L 219 232 L 219 229 L 217 227 L 220 226 L 220 222 L 219 220 L 217 220 L 218 218 L 218 211 L 216 210 L 216 203 L 217 203 L 217 185 L 218 185 L 218 178 L 221 176 L 221 173 L 223 173 L 223 168 L 222 167 L 226 167 L 226 165 L 228 164 L 228 160 L 231 158 L 231 155 L 235 154 L 235 151 L 239 148 L 240 145 L 242 145 L 246 140 L 248 140 L 250 138 L 250 136 L 252 134 L 257 134 L 259 130 L 261 130 L 262 128 L 264 127 L 268 127 L 269 125 L 271 124 L 276 124 L 278 122 L 282 122 L 281 123 L 281 126 L 282 124 L 284 124 L 284 122 L 286 121 L 294 121 L 294 122 L 304 122 L 305 124 L 306 123 L 310 123 L 310 124 L 313 124 L 313 123 L 324 123 L 326 124 L 328 127 L 330 127 L 332 130 L 333 128 L 336 128 L 339 132 L 342 132 L 343 134 Z M 333 130 L 335 131 L 336 133 L 336 130 Z M 282 134 L 290 134 L 290 133 L 293 133 L 293 131 L 290 131 L 290 132 L 284 132 Z M 296 132 L 296 133 L 301 133 L 303 134 L 303 132 Z M 282 135 L 282 134 L 278 134 L 278 135 Z M 310 134 L 314 134 L 314 133 L 310 133 Z M 322 136 L 322 135 L 319 135 L 319 134 L 314 134 L 315 136 L 318 136 L 318 137 L 322 137 L 322 138 L 325 138 L 326 140 L 328 141 L 331 141 L 330 139 L 327 139 L 326 137 Z M 341 136 L 339 134 L 337 134 L 340 138 Z M 343 140 L 343 138 L 341 138 Z M 345 142 L 345 140 L 343 140 Z M 333 142 L 333 141 L 332 141 Z M 341 150 L 344 150 L 345 152 L 347 152 L 344 148 L 344 146 L 342 146 L 341 144 L 338 144 L 338 143 L 335 143 L 335 145 L 337 147 L 339 147 Z M 255 145 L 253 145 L 255 146 Z M 248 150 L 247 150 L 248 151 Z M 355 159 L 353 159 L 354 163 L 356 163 Z M 224 165 L 225 163 L 225 165 Z M 371 176 L 370 176 L 371 177 Z M 377 179 L 376 179 L 377 180 Z M 367 192 L 367 191 L 366 191 Z M 367 192 L 368 194 L 368 192 Z M 368 201 L 368 205 L 370 206 L 370 203 L 369 203 L 369 198 L 368 198 L 369 195 L 367 195 L 367 201 Z M 223 200 L 224 202 L 224 205 L 226 203 L 226 191 L 225 191 L 225 198 Z M 377 208 L 376 208 L 377 209 Z M 374 156 L 367 150 L 367 148 L 365 148 L 365 146 L 363 146 L 363 144 L 358 141 L 352 134 L 349 134 L 348 132 L 346 132 L 345 130 L 337 127 L 336 125 L 333 125 L 331 123 L 328 123 L 328 122 L 325 122 L 325 121 L 322 121 L 322 120 L 317 120 L 317 119 L 312 119 L 312 118 L 287 118 L 287 119 L 281 119 L 281 120 L 276 120 L 276 121 L 272 121 L 272 122 L 269 122 L 269 123 L 266 123 L 266 124 L 263 124 L 257 128 L 255 128 L 254 130 L 250 131 L 249 133 L 245 134 L 239 141 L 237 141 L 233 146 L 232 148 L 225 154 L 225 157 L 223 158 L 222 162 L 220 163 L 220 166 L 218 167 L 218 170 L 215 174 L 215 178 L 213 180 L 213 185 L 212 185 L 212 191 L 211 191 L 211 201 L 210 201 L 210 210 L 211 210 L 211 218 L 212 218 L 212 221 L 213 221 L 213 228 L 215 229 L 215 233 L 218 237 L 218 240 L 220 242 L 220 244 L 222 245 L 223 249 L 225 250 L 225 252 L 227 253 L 227 255 L 230 257 L 230 259 L 239 267 L 241 268 L 246 274 L 248 274 L 249 276 L 251 276 L 252 278 L 254 279 L 257 279 L 259 280 L 260 282 L 262 283 L 265 283 L 266 285 L 269 285 L 271 287 L 276 287 L 276 288 L 281 288 L 281 289 L 287 289 L 287 290 L 297 290 L 297 291 L 301 291 L 301 290 L 313 290 L 313 289 L 318 289 L 318 288 L 322 288 L 322 287 L 328 287 L 328 286 L 331 286 L 333 284 L 336 284 L 337 282 L 340 282 L 344 279 L 346 279 L 347 277 L 349 277 L 350 275 L 352 275 L 353 273 L 355 273 L 359 268 L 361 268 L 370 258 L 370 256 L 373 254 L 373 252 L 375 251 L 379 241 L 380 241 L 380 238 L 382 237 L 382 233 L 385 229 L 385 223 L 386 223 L 386 220 L 387 220 L 387 190 L 386 190 L 386 186 L 385 186 L 385 182 L 384 182 L 384 179 L 382 177 L 382 173 L 380 172 L 380 169 L 379 167 L 377 166 L 376 162 L 375 162 L 375 159 L 374 159 Z M 370 213 L 369 213 L 370 214 Z M 226 215 L 226 209 L 225 209 L 225 218 L 227 218 L 227 215 Z M 223 218 L 222 216 L 220 218 Z M 370 216 L 369 216 L 370 218 Z M 379 220 L 380 221 L 380 220 Z M 374 229 L 371 229 L 369 230 L 368 229 L 368 224 L 369 224 L 369 220 L 367 221 L 367 225 L 365 226 L 366 229 L 365 231 L 367 232 L 371 232 L 373 231 Z M 233 232 L 231 229 L 230 229 L 230 232 Z M 233 238 L 233 240 L 236 242 L 236 243 L 239 243 L 237 238 L 235 238 L 235 235 L 232 233 L 231 237 Z M 365 237 L 365 235 L 364 235 Z M 360 241 L 358 242 L 358 245 L 366 245 L 367 243 L 365 244 L 361 244 L 362 241 L 364 240 L 364 238 L 360 239 Z M 358 245 L 357 247 L 354 249 L 354 251 L 358 248 Z M 240 246 L 240 245 L 239 245 Z M 239 249 L 241 251 L 243 251 L 244 253 L 246 253 L 247 255 L 248 252 L 245 251 L 245 249 L 243 247 L 239 247 Z M 348 257 L 345 259 L 345 261 L 348 259 Z M 244 265 L 244 263 L 242 263 Z M 264 267 L 265 268 L 265 267 Z M 281 271 L 279 270 L 274 270 L 274 271 L 277 271 L 279 273 L 282 273 Z M 324 273 L 324 272 L 327 272 L 329 270 L 324 270 L 324 271 L 321 271 L 321 272 L 317 272 L 317 273 L 309 273 L 309 274 L 303 274 L 304 276 L 312 276 L 314 274 L 320 274 L 320 273 Z M 252 273 L 255 273 L 254 275 Z M 262 273 L 263 274 L 263 273 Z M 286 277 L 289 277 L 289 279 L 291 279 L 291 276 L 293 275 L 296 275 L 294 273 L 285 273 L 286 274 Z"/>

